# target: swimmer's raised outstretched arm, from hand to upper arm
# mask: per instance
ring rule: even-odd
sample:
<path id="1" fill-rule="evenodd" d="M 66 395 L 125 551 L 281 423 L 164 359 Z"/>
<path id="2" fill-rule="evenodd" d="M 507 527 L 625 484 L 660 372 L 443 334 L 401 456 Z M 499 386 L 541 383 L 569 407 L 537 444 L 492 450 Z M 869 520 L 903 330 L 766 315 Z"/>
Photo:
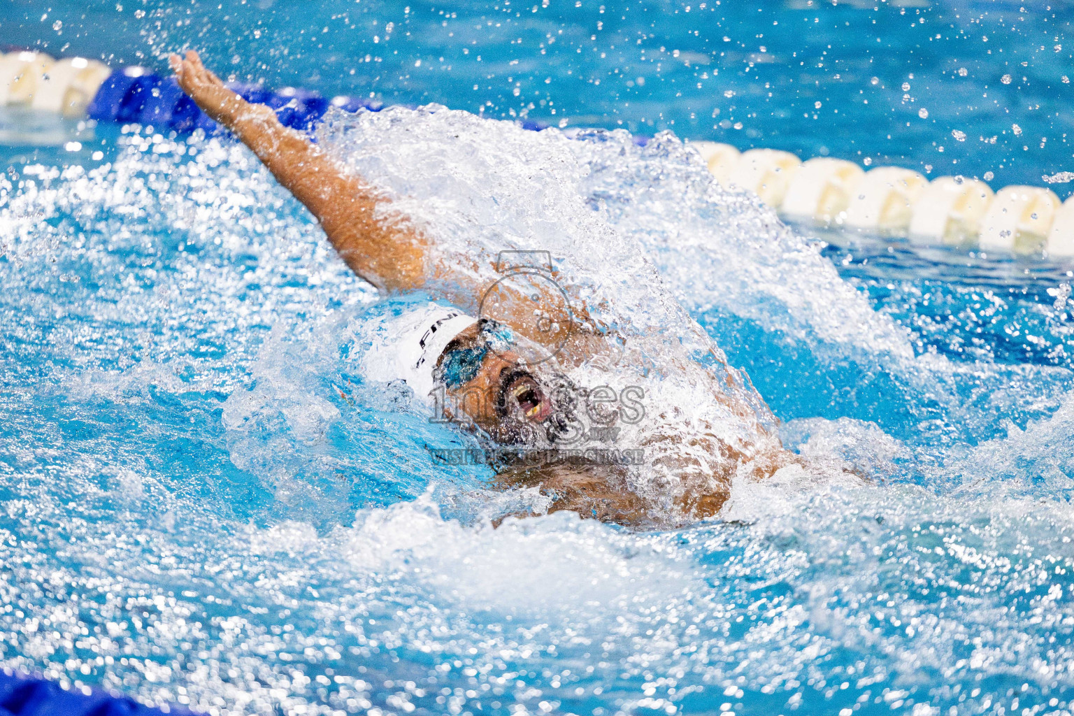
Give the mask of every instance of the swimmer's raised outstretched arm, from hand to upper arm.
<path id="1" fill-rule="evenodd" d="M 405 222 L 386 216 L 382 207 L 378 211 L 387 199 L 301 132 L 284 127 L 270 107 L 251 104 L 224 87 L 198 53 L 188 50 L 185 59 L 172 55 L 170 62 L 179 87 L 305 204 L 355 274 L 382 290 L 422 288 L 425 240 Z"/>

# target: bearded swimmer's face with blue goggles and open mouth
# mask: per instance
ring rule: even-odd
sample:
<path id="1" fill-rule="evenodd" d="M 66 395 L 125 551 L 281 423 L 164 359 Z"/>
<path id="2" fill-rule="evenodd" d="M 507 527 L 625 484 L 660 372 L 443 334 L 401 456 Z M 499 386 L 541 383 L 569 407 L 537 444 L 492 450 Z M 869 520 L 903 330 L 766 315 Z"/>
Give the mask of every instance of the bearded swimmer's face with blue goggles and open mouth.
<path id="1" fill-rule="evenodd" d="M 435 377 L 441 381 L 450 413 L 461 412 L 502 442 L 533 442 L 535 435 L 554 441 L 564 410 L 543 374 L 527 367 L 512 350 L 517 338 L 506 326 L 479 321 L 444 350 Z M 450 414 L 455 419 L 463 415 Z"/>

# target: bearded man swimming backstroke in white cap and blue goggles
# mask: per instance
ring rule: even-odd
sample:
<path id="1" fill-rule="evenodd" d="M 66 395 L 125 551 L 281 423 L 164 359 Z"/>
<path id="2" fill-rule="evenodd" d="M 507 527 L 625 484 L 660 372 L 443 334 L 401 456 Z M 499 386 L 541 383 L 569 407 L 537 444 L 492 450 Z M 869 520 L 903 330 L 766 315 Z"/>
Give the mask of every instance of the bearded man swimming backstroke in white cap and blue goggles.
<path id="1" fill-rule="evenodd" d="M 453 306 L 480 304 L 485 291 L 475 284 L 473 271 L 438 260 L 434 238 L 393 213 L 390 200 L 369 182 L 302 132 L 284 127 L 272 108 L 251 104 L 228 89 L 197 53 L 187 52 L 185 58 L 172 55 L 170 62 L 184 91 L 309 209 L 339 257 L 361 278 L 383 293 L 423 291 Z M 496 320 L 431 306 L 401 319 L 390 347 L 397 377 L 418 397 L 432 397 L 447 418 L 495 444 L 551 455 L 538 464 L 517 465 L 509 459 L 497 464 L 502 486 L 537 487 L 551 499 L 551 511 L 570 510 L 637 526 L 681 524 L 717 512 L 736 476 L 763 478 L 799 462 L 766 427 L 756 406 L 725 390 L 720 382 L 726 378 L 697 365 L 688 368 L 699 376 L 699 399 L 713 401 L 726 415 L 717 422 L 740 426 L 735 435 L 750 437 L 728 438 L 729 432 L 713 422 L 694 425 L 684 438 L 676 429 L 674 410 L 655 417 L 665 429 L 650 430 L 634 448 L 648 451 L 644 467 L 662 476 L 656 482 L 667 487 L 670 499 L 630 489 L 629 468 L 615 459 L 594 459 L 597 453 L 589 451 L 557 452 L 577 444 L 571 439 L 580 430 L 592 433 L 600 422 L 599 410 L 594 412 L 592 405 L 579 408 L 584 392 L 564 372 L 622 353 L 629 341 L 593 319 L 585 305 L 570 308 L 555 296 L 541 303 L 545 328 L 539 330 L 528 298 L 502 288 Z M 534 360 L 542 350 L 554 357 Z M 725 366 L 714 349 L 710 353 Z M 767 413 L 763 403 L 760 410 Z"/>

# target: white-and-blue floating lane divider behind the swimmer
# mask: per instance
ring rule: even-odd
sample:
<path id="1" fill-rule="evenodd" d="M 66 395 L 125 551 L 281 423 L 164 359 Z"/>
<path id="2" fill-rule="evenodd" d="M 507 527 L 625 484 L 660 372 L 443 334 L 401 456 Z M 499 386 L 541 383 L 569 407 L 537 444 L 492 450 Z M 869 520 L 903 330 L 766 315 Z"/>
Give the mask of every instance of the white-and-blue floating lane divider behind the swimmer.
<path id="1" fill-rule="evenodd" d="M 228 86 L 250 102 L 271 106 L 285 126 L 301 130 L 309 130 L 330 106 L 347 112 L 382 108 L 366 98 L 328 99 L 299 87 Z M 0 55 L 0 105 L 178 132 L 220 131 L 172 76 L 161 77 L 137 65 L 111 69 L 81 57 L 57 61 L 40 52 Z M 520 123 L 532 130 L 547 127 L 532 120 Z M 635 140 L 642 145 L 648 141 Z M 929 181 L 918 172 L 898 166 L 865 171 L 843 159 L 802 161 L 778 149 L 739 151 L 717 142 L 688 145 L 721 185 L 756 193 L 789 220 L 910 238 L 923 245 L 1074 257 L 1074 196 L 1064 204 L 1042 187 L 1014 186 L 992 192 L 985 182 L 960 176 Z"/>

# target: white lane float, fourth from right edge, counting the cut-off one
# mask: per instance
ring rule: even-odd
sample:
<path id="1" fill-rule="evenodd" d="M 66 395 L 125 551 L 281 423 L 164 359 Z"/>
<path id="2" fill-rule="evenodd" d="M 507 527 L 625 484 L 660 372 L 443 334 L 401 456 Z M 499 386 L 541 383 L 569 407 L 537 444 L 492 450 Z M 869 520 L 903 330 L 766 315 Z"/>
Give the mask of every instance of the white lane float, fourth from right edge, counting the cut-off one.
<path id="1" fill-rule="evenodd" d="M 917 198 L 929 180 L 901 166 L 877 166 L 866 172 L 846 207 L 845 224 L 883 236 L 905 236 Z"/>

